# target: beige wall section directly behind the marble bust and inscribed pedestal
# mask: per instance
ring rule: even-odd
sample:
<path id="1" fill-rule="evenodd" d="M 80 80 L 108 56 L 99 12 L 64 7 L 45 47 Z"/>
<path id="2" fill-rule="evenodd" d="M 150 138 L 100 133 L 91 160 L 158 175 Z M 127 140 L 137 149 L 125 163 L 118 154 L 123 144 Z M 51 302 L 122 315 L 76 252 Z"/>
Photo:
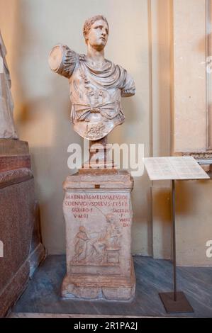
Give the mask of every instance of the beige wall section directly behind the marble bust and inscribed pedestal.
<path id="1" fill-rule="evenodd" d="M 67 147 L 82 139 L 69 123 L 69 85 L 53 74 L 48 54 L 57 43 L 84 53 L 82 26 L 102 13 L 110 36 L 106 58 L 133 75 L 136 96 L 123 100 L 125 124 L 110 142 L 144 143 L 149 154 L 149 54 L 146 0 L 1 0 L 1 32 L 8 50 L 15 118 L 21 140 L 30 146 L 36 192 L 40 203 L 43 242 L 50 254 L 65 252 L 62 181 Z M 133 252 L 150 254 L 149 181 L 135 178 L 133 191 Z"/>

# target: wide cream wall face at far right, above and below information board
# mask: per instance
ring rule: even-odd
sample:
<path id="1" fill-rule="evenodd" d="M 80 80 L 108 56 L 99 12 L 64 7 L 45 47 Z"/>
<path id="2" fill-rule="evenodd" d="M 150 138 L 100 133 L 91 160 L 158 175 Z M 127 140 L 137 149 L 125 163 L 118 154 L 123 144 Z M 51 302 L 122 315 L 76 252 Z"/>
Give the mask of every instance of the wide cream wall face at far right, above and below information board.
<path id="1" fill-rule="evenodd" d="M 207 149 L 206 17 L 210 0 L 173 0 L 174 152 Z M 206 244 L 212 239 L 211 179 L 177 184 L 177 263 L 211 266 Z"/>

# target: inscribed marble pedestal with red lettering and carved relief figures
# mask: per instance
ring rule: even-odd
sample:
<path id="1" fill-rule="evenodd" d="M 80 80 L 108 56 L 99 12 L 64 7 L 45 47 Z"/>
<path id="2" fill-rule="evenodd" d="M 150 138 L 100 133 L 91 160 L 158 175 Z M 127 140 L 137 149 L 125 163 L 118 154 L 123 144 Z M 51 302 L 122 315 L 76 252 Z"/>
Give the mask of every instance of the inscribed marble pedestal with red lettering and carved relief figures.
<path id="1" fill-rule="evenodd" d="M 62 297 L 131 300 L 133 212 L 128 171 L 81 170 L 63 184 L 67 275 Z"/>

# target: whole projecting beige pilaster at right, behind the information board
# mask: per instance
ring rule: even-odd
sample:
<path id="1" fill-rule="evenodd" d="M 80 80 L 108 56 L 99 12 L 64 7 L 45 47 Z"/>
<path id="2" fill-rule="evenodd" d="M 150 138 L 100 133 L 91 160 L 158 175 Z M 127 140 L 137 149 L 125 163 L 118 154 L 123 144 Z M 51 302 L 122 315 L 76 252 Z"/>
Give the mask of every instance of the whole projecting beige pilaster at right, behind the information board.
<path id="1" fill-rule="evenodd" d="M 211 0 L 152 0 L 152 154 L 206 150 L 207 8 Z M 211 6 L 212 9 L 212 6 Z M 162 15 L 160 15 L 160 13 Z M 210 23 L 211 24 L 211 23 Z M 171 188 L 168 181 L 152 184 L 152 251 L 169 259 Z M 177 264 L 211 266 L 206 244 L 212 239 L 211 180 L 177 181 Z M 212 243 L 212 242 L 211 242 Z"/>

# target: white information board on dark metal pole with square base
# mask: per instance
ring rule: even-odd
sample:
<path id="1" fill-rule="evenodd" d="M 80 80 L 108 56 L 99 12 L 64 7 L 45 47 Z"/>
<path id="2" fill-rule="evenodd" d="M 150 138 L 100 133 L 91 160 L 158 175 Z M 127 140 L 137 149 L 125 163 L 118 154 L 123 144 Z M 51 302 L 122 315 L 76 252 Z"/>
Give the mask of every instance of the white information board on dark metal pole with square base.
<path id="1" fill-rule="evenodd" d="M 172 180 L 172 237 L 173 237 L 173 280 L 172 293 L 159 293 L 160 299 L 169 313 L 194 312 L 186 296 L 177 291 L 176 274 L 176 230 L 175 230 L 175 183 L 177 180 L 210 179 L 194 157 L 147 157 L 143 158 L 147 174 L 151 181 Z"/>

